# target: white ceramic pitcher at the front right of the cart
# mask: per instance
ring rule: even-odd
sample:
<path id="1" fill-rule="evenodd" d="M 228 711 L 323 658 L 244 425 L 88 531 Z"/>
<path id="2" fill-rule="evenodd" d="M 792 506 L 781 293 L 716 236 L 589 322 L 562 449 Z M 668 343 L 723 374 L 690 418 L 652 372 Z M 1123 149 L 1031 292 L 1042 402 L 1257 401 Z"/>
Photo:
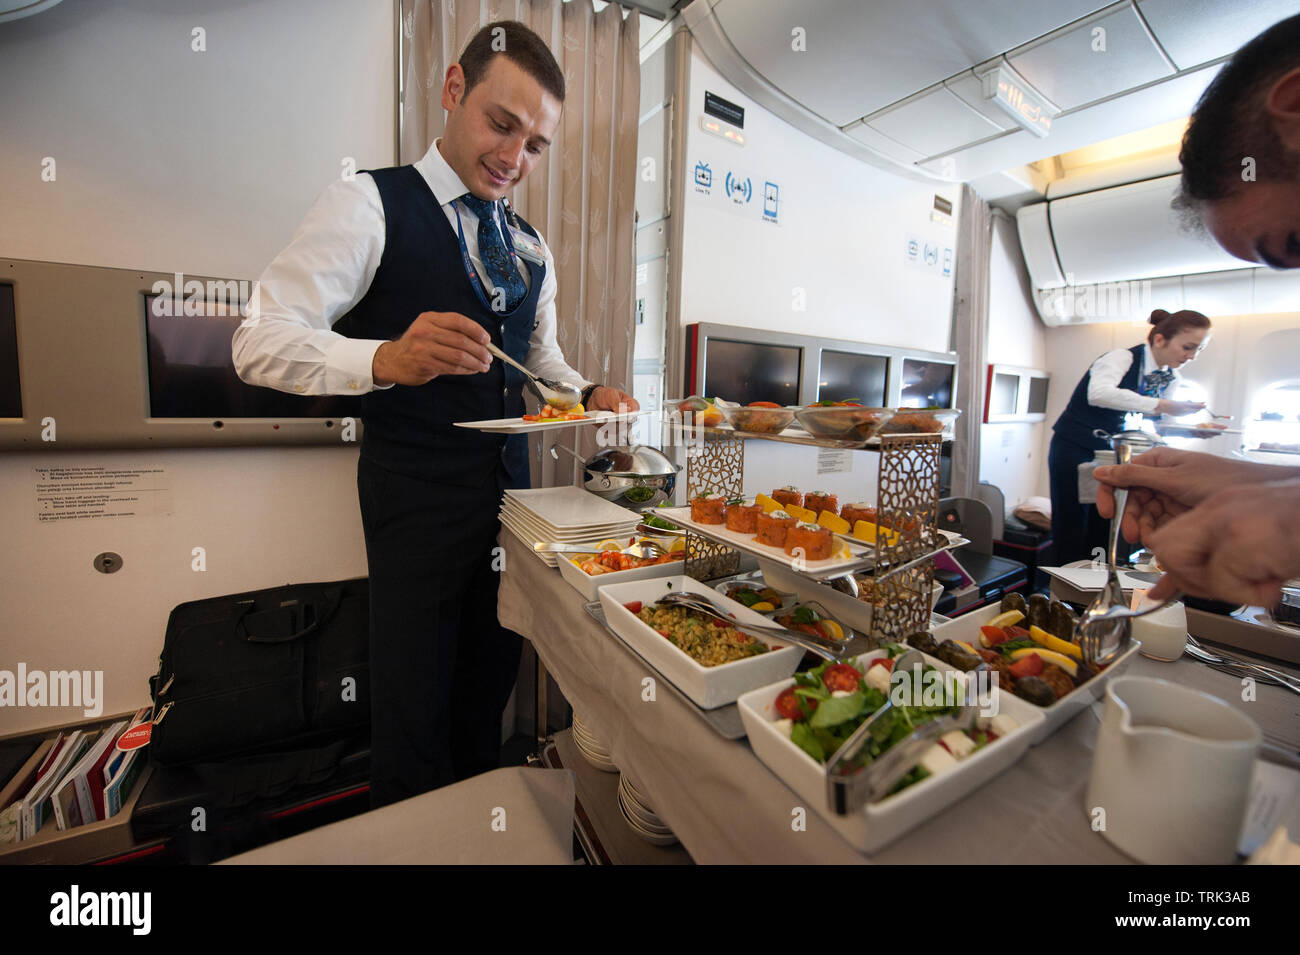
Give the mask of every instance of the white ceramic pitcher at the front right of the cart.
<path id="1" fill-rule="evenodd" d="M 1139 861 L 1231 863 L 1260 741 L 1254 721 L 1216 696 L 1167 680 L 1115 677 L 1084 811 Z"/>

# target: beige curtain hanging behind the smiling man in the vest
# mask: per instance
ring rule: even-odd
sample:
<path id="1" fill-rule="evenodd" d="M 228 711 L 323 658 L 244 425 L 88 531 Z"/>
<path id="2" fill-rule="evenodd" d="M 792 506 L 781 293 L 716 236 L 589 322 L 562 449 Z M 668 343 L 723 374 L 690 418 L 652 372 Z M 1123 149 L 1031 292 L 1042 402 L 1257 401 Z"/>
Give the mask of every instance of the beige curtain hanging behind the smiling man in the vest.
<path id="1" fill-rule="evenodd" d="M 564 71 L 555 142 L 511 196 L 555 255 L 556 339 L 588 381 L 630 394 L 641 104 L 636 13 L 615 4 L 597 13 L 590 0 L 402 0 L 400 161 L 416 161 L 442 135 L 447 68 L 480 27 L 498 19 L 537 32 Z M 575 447 L 577 437 L 534 435 L 534 487 L 573 481 L 572 457 L 552 460 L 551 440 Z M 594 451 L 593 434 L 581 440 L 580 453 Z"/>

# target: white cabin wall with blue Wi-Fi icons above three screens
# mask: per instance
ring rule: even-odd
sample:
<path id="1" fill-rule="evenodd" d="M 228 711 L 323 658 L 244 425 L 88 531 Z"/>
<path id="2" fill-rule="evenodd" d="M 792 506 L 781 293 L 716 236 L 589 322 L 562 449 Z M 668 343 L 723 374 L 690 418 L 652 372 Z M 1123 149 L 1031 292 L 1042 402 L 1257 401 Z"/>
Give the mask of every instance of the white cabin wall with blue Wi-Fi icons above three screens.
<path id="1" fill-rule="evenodd" d="M 705 91 L 745 108 L 745 146 L 705 133 Z M 948 351 L 961 188 L 923 183 L 870 166 L 796 130 L 692 53 L 681 248 L 681 322 L 718 322 L 850 342 Z M 707 162 L 712 186 L 696 188 Z M 753 182 L 750 203 L 725 194 L 731 172 Z M 763 221 L 763 186 L 779 187 L 779 225 Z M 935 195 L 950 220 L 931 217 Z M 939 249 L 931 266 L 909 264 L 907 239 Z M 680 386 L 666 385 L 676 396 Z M 727 395 L 722 395 L 727 398 Z M 746 444 L 745 491 L 786 483 L 841 500 L 874 500 L 878 456 L 854 452 L 849 470 L 818 473 L 818 452 L 789 444 Z"/>

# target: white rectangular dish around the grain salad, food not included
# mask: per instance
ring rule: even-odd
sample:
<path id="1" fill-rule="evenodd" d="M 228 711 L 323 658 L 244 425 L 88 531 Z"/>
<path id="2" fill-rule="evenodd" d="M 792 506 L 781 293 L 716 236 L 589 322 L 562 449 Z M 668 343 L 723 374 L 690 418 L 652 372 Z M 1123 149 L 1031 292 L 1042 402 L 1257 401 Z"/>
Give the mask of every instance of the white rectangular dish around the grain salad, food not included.
<path id="1" fill-rule="evenodd" d="M 737 696 L 755 686 L 785 680 L 794 673 L 794 668 L 803 659 L 803 651 L 800 647 L 762 638 L 768 646 L 780 646 L 781 648 L 718 667 L 702 667 L 689 654 L 679 650 L 658 631 L 651 630 L 623 605 L 636 600 L 650 604 L 664 594 L 680 591 L 703 594 L 711 598 L 719 607 L 725 607 L 741 628 L 746 624 L 771 626 L 772 621 L 685 576 L 655 577 L 647 581 L 599 587 L 598 594 L 601 605 L 604 608 L 604 622 L 658 669 L 664 680 L 668 680 L 702 709 L 724 707 L 728 703 L 734 703 Z"/>

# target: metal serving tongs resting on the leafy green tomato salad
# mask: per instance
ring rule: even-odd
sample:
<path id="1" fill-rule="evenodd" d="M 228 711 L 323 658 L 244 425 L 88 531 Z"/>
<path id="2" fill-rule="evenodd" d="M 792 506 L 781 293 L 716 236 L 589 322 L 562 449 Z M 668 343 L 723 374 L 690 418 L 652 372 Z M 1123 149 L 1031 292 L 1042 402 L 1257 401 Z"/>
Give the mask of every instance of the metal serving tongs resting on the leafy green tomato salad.
<path id="1" fill-rule="evenodd" d="M 913 693 L 920 694 L 923 669 L 924 657 L 919 650 L 907 650 L 894 657 L 889 699 L 863 720 L 862 725 L 844 741 L 844 745 L 827 761 L 826 795 L 836 815 L 849 816 L 862 807 L 883 799 L 898 783 L 898 780 L 911 772 L 935 739 L 945 733 L 970 729 L 975 725 L 976 708 L 968 703 L 966 683 L 954 680 L 952 686 L 962 690 L 962 702 L 957 706 L 956 712 L 920 724 L 867 765 L 863 767 L 858 761 L 862 747 L 871 737 L 871 728 L 894 708 L 893 674 L 906 673 L 911 680 Z M 945 680 L 952 680 L 952 677 L 945 676 Z"/>

